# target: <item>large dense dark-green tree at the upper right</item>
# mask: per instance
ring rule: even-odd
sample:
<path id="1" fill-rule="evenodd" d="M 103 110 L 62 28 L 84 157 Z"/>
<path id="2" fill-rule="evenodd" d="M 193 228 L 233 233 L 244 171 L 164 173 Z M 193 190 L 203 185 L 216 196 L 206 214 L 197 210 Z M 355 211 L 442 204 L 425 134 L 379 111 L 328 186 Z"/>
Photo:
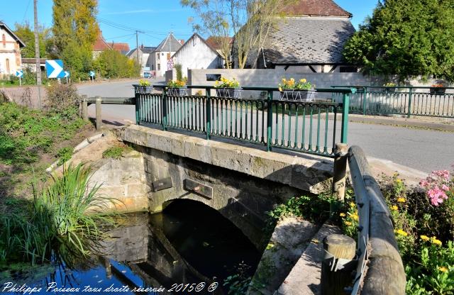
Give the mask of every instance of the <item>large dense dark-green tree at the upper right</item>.
<path id="1" fill-rule="evenodd" d="M 347 62 L 368 74 L 454 80 L 454 2 L 379 2 L 347 43 Z"/>

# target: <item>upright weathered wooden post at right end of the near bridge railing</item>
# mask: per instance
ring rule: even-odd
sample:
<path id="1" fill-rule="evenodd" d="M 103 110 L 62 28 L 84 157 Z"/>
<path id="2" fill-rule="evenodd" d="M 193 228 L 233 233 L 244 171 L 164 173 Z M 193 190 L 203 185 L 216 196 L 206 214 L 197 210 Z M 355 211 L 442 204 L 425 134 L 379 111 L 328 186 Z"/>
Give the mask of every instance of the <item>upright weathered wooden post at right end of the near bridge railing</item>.
<path id="1" fill-rule="evenodd" d="M 334 158 L 333 194 L 336 194 L 339 201 L 345 197 L 345 177 L 347 176 L 347 153 L 346 143 L 336 143 L 336 155 Z"/>

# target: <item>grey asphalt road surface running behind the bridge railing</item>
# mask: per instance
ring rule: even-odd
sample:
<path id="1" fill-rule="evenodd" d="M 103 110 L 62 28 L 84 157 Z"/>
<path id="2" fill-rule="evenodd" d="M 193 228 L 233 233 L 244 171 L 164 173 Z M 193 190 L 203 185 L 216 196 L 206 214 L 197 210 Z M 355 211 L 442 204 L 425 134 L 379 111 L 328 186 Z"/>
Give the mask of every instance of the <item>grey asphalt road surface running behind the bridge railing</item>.
<path id="1" fill-rule="evenodd" d="M 131 97 L 133 83 L 85 84 L 78 89 L 79 94 L 88 96 Z M 89 106 L 89 113 L 94 115 L 93 105 Z M 102 116 L 116 124 L 124 123 L 123 119 L 135 121 L 135 108 L 103 105 Z M 349 123 L 348 131 L 348 144 L 360 145 L 372 157 L 392 160 L 423 172 L 451 169 L 454 164 L 454 134 L 450 132 L 355 122 Z"/>

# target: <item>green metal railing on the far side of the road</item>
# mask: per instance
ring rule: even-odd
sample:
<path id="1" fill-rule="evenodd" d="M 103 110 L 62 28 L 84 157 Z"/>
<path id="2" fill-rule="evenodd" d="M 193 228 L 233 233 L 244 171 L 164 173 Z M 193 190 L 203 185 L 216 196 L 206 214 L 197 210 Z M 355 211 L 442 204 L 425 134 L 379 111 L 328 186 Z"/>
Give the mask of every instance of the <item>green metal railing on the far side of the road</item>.
<path id="1" fill-rule="evenodd" d="M 350 113 L 454 118 L 454 87 L 353 87 L 358 91 L 350 97 Z"/>

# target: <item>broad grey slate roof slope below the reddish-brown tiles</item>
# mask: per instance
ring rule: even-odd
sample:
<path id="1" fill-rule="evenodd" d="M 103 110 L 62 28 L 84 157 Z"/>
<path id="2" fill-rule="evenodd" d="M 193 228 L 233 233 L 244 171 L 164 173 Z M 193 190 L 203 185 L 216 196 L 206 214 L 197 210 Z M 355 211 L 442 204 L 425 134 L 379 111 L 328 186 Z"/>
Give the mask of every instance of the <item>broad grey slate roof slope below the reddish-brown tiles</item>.
<path id="1" fill-rule="evenodd" d="M 349 18 L 287 17 L 270 34 L 265 60 L 275 65 L 340 64 L 343 45 L 353 33 Z"/>

